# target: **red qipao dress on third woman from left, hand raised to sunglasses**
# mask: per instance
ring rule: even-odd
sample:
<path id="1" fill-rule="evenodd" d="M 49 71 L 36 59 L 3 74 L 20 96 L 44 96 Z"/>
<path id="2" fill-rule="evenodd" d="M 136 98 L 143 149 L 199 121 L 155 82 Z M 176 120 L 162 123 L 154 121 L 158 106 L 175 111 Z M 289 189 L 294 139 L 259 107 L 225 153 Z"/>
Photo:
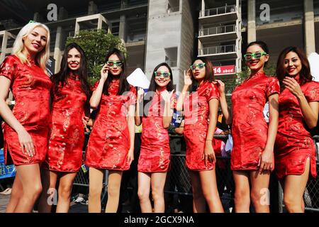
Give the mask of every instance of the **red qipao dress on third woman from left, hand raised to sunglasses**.
<path id="1" fill-rule="evenodd" d="M 93 91 L 99 85 L 94 84 Z M 108 87 L 108 95 L 102 94 L 99 113 L 86 148 L 85 164 L 96 169 L 128 170 L 128 106 L 136 103 L 136 89 L 117 95 L 119 79 L 113 79 Z"/>

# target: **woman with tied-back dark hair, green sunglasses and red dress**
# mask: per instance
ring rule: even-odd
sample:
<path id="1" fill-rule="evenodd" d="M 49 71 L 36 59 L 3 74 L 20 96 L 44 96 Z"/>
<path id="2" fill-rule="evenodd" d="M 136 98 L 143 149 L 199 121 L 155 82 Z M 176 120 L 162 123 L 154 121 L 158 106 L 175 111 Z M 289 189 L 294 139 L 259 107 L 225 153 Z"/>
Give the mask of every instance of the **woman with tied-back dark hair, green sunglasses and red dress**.
<path id="1" fill-rule="evenodd" d="M 268 187 L 270 173 L 274 170 L 279 82 L 278 79 L 267 77 L 264 73 L 264 65 L 269 60 L 266 43 L 250 43 L 247 46 L 245 60 L 250 68 L 250 76 L 237 86 L 232 94 L 233 151 L 230 168 L 233 170 L 235 181 L 235 212 L 249 212 L 251 199 L 255 212 L 269 213 Z M 221 109 L 226 123 L 230 124 L 225 85 L 220 81 L 218 84 Z M 269 126 L 263 115 L 267 101 Z"/>

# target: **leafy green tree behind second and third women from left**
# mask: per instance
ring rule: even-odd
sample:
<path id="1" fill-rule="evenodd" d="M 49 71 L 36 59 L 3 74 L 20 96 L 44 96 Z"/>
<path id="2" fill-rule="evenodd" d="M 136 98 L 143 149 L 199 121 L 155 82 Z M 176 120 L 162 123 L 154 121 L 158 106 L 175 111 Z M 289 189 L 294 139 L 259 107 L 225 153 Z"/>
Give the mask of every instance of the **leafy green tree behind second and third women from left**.
<path id="1" fill-rule="evenodd" d="M 108 50 L 118 48 L 118 50 L 121 50 L 127 56 L 127 51 L 122 40 L 103 29 L 79 31 L 79 34 L 75 37 L 67 38 L 66 45 L 69 43 L 77 43 L 84 50 L 88 64 L 90 84 L 94 84 L 99 79 L 101 67 L 105 63 Z"/>

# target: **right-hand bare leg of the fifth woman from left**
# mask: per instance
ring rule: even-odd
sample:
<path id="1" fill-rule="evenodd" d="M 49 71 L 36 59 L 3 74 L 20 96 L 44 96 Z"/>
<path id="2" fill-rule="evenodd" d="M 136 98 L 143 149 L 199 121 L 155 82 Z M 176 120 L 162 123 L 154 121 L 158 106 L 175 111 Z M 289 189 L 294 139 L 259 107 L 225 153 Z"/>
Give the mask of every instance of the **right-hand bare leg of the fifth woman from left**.
<path id="1" fill-rule="evenodd" d="M 211 213 L 224 213 L 223 205 L 221 204 L 216 183 L 215 170 L 207 170 L 198 172 L 201 179 L 201 188 L 203 196 Z"/>

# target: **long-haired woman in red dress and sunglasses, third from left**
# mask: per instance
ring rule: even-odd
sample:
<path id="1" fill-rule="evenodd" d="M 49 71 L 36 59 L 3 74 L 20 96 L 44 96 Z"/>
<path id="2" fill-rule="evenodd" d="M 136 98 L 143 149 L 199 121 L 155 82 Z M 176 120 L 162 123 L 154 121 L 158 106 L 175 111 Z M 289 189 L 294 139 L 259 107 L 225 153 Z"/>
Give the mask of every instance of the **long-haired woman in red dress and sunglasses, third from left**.
<path id="1" fill-rule="evenodd" d="M 110 50 L 101 79 L 94 84 L 90 104 L 99 108 L 87 145 L 89 168 L 89 212 L 101 212 L 103 172 L 108 170 L 106 212 L 116 212 L 123 170 L 133 161 L 136 90 L 125 77 L 125 57 Z"/>

